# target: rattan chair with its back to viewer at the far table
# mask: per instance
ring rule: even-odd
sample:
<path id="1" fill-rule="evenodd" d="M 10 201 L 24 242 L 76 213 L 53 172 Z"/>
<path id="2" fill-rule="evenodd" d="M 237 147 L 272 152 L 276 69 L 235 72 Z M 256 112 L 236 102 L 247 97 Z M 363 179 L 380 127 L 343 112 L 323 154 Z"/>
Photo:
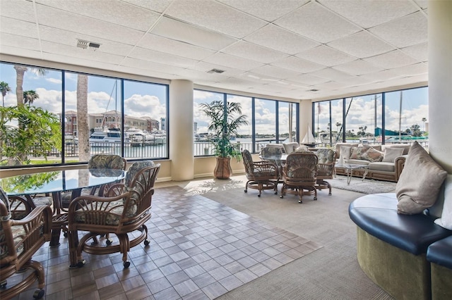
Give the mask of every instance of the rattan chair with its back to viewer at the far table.
<path id="1" fill-rule="evenodd" d="M 286 193 L 299 196 L 299 203 L 303 203 L 302 198 L 304 189 L 307 193 L 314 194 L 314 200 L 317 200 L 317 163 L 319 158 L 311 151 L 292 152 L 286 158 L 283 165 L 283 187 L 281 187 L 281 196 Z"/>

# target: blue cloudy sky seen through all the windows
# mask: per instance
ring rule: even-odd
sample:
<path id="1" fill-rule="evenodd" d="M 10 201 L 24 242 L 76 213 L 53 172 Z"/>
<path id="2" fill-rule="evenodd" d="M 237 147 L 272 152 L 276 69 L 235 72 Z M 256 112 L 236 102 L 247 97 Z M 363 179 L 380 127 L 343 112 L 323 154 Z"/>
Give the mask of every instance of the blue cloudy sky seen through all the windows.
<path id="1" fill-rule="evenodd" d="M 76 111 L 76 84 L 77 75 L 66 72 L 66 108 L 65 111 Z M 5 96 L 5 105 L 16 105 L 16 71 L 13 65 L 0 63 L 0 81 L 7 82 L 11 92 Z M 88 113 L 104 113 L 121 107 L 120 81 L 109 77 L 89 76 L 88 80 Z M 61 113 L 61 72 L 49 70 L 44 76 L 25 72 L 23 89 L 35 90 L 40 98 L 34 103 L 52 113 Z M 148 116 L 155 120 L 165 118 L 167 87 L 165 85 L 149 84 L 145 82 L 133 82 L 126 80 L 124 83 L 124 113 L 135 117 Z M 222 94 L 206 91 L 194 91 L 194 122 L 197 123 L 198 133 L 207 132 L 208 118 L 199 108 L 199 104 L 213 100 L 222 101 Z M 118 103 L 116 102 L 118 99 Z M 251 134 L 251 98 L 246 96 L 228 95 L 228 101 L 239 101 L 242 103 L 242 113 L 249 118 L 250 125 L 239 129 L 239 134 Z M 347 99 L 347 104 L 350 99 Z M 381 94 L 377 96 L 377 103 L 381 105 Z M 398 130 L 400 116 L 400 92 L 386 93 L 386 129 Z M 261 134 L 272 134 L 275 132 L 275 101 L 256 99 L 256 132 Z M 326 130 L 329 123 L 329 108 L 326 102 L 321 103 L 321 113 L 318 113 L 315 105 L 316 118 L 319 118 L 320 127 Z M 377 126 L 381 127 L 381 107 L 378 108 Z M 342 101 L 333 101 L 333 130 L 335 123 L 342 123 Z M 280 132 L 288 132 L 288 104 L 281 103 L 279 107 Z M 424 128 L 422 118 L 428 122 L 428 88 L 409 89 L 403 91 L 402 130 L 413 124 Z M 317 122 L 317 121 L 316 121 Z M 373 132 L 374 128 L 374 96 L 354 97 L 352 106 L 347 115 L 347 130 L 358 130 L 359 127 L 367 126 Z M 295 125 L 294 125 L 295 127 Z M 294 128 L 295 130 L 295 128 Z"/>

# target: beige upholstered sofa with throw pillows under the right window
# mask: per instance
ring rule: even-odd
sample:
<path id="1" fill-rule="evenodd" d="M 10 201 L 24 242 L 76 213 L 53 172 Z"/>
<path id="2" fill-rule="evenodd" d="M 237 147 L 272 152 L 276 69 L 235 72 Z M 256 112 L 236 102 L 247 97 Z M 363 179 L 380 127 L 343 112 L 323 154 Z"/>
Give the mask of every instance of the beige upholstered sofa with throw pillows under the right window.
<path id="1" fill-rule="evenodd" d="M 336 174 L 346 174 L 345 168 L 340 167 L 341 163 L 366 165 L 366 178 L 398 182 L 409 149 L 409 144 L 363 146 L 351 143 L 338 143 L 335 145 L 335 151 L 338 153 L 338 161 L 336 161 L 335 168 Z M 365 171 L 364 168 L 355 169 L 352 175 L 362 176 Z"/>

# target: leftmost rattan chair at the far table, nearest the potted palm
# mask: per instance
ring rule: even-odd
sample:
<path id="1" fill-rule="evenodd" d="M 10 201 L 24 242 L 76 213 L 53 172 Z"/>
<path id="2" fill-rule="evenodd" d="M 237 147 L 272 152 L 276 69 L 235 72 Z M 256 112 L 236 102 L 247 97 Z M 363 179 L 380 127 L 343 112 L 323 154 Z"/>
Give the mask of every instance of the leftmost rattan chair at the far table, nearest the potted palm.
<path id="1" fill-rule="evenodd" d="M 248 192 L 248 188 L 257 189 L 257 196 L 260 197 L 264 189 L 273 189 L 275 194 L 278 194 L 278 165 L 269 161 L 253 161 L 251 153 L 246 149 L 242 151 L 242 158 L 248 180 L 244 192 Z"/>

